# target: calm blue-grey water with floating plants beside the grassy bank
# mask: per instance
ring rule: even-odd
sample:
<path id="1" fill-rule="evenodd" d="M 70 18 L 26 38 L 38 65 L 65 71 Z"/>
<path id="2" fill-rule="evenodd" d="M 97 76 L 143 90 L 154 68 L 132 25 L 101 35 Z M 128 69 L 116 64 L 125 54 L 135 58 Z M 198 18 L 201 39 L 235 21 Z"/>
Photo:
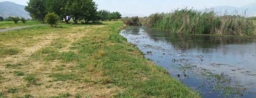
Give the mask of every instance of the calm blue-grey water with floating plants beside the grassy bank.
<path id="1" fill-rule="evenodd" d="M 142 26 L 120 35 L 202 97 L 256 98 L 256 38 L 177 35 Z"/>

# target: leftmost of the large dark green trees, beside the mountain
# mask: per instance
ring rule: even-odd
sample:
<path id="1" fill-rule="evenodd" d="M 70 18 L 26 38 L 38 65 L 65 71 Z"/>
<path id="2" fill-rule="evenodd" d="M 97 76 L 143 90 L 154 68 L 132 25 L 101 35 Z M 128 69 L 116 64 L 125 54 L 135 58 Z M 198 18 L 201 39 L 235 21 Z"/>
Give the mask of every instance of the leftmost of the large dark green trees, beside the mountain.
<path id="1" fill-rule="evenodd" d="M 46 0 L 29 0 L 25 10 L 29 12 L 31 18 L 44 22 L 44 17 L 47 14 Z"/>

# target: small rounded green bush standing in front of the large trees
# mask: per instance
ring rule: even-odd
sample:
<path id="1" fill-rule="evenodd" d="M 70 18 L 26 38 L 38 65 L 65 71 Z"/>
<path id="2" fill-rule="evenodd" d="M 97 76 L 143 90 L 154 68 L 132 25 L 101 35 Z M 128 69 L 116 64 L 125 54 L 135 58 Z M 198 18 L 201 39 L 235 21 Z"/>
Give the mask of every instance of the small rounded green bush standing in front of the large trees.
<path id="1" fill-rule="evenodd" d="M 51 24 L 51 27 L 54 27 L 54 25 L 57 24 L 57 21 L 59 20 L 59 18 L 58 18 L 58 15 L 55 14 L 55 12 L 49 12 L 48 14 L 45 15 L 44 20 L 48 24 Z"/>

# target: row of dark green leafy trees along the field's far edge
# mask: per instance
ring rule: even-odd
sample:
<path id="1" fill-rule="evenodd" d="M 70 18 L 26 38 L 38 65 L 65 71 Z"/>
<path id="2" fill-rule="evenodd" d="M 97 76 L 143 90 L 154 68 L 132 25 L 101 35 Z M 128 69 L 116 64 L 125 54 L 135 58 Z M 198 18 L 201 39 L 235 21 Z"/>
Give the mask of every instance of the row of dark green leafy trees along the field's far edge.
<path id="1" fill-rule="evenodd" d="M 65 20 L 66 23 L 71 18 L 75 23 L 78 20 L 85 20 L 85 22 L 106 20 L 101 18 L 100 11 L 97 11 L 98 5 L 93 0 L 29 0 L 27 4 L 25 10 L 30 13 L 31 18 L 42 22 L 48 12 L 55 12 L 60 20 Z M 119 12 L 107 12 L 107 19 L 121 18 Z"/>

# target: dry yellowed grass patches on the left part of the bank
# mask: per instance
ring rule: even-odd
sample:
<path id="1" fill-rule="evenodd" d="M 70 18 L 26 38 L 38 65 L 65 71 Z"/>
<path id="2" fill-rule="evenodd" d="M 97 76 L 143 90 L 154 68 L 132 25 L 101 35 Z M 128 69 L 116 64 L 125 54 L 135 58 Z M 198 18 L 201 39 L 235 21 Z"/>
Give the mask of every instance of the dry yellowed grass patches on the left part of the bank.
<path id="1" fill-rule="evenodd" d="M 103 26 L 104 25 L 88 25 L 72 27 L 71 29 L 49 30 L 46 34 L 29 36 L 29 38 L 21 37 L 12 41 L 1 41 L 0 44 L 1 46 L 3 46 L 3 48 L 15 47 L 18 49 L 22 49 L 22 52 L 16 55 L 2 55 L 0 59 L 0 71 L 4 73 L 1 76 L 5 79 L 1 80 L 0 82 L 0 92 L 4 93 L 5 97 L 23 96 L 23 94 L 25 94 L 26 92 L 29 92 L 29 94 L 31 94 L 33 97 L 57 96 L 60 93 L 66 92 L 71 93 L 73 97 L 76 94 L 88 97 L 108 97 L 111 95 L 116 95 L 119 91 L 122 91 L 121 88 L 116 86 L 112 88 L 106 88 L 104 85 L 101 84 L 92 85 L 91 82 L 83 83 L 74 82 L 72 80 L 52 81 L 53 78 L 49 78 L 48 74 L 53 72 L 53 70 L 57 70 L 55 72 L 59 72 L 58 70 L 61 70 L 63 73 L 72 72 L 70 69 L 77 66 L 76 61 L 63 63 L 60 60 L 53 60 L 48 62 L 42 59 L 33 59 L 30 57 L 33 53 L 44 47 L 55 47 L 53 43 L 55 43 L 56 41 L 60 41 L 56 40 L 58 38 L 66 39 L 68 41 L 62 43 L 65 45 L 65 47 L 55 49 L 59 52 L 68 52 L 70 51 L 70 47 L 72 47 L 73 42 L 79 40 L 81 37 L 89 36 L 90 34 L 92 34 L 94 29 Z M 18 31 L 10 31 L 7 33 L 16 32 Z M 101 50 L 99 51 L 99 54 L 93 54 L 93 58 L 98 58 L 103 54 L 104 50 Z M 6 68 L 5 64 L 7 63 L 21 63 L 23 65 L 19 68 Z M 94 72 L 94 66 L 95 65 L 90 65 L 89 67 L 89 70 L 95 75 L 89 75 L 91 77 L 88 81 L 97 81 L 101 77 L 102 72 Z M 63 70 L 58 69 L 60 67 L 62 67 Z M 24 76 L 15 76 L 13 73 L 10 73 L 16 70 L 25 72 L 25 74 L 36 74 L 36 83 L 39 86 L 28 86 L 27 83 L 23 81 Z M 109 77 L 103 77 L 103 81 L 105 83 L 111 82 Z M 8 93 L 7 91 L 9 88 L 17 88 L 18 93 Z"/>

